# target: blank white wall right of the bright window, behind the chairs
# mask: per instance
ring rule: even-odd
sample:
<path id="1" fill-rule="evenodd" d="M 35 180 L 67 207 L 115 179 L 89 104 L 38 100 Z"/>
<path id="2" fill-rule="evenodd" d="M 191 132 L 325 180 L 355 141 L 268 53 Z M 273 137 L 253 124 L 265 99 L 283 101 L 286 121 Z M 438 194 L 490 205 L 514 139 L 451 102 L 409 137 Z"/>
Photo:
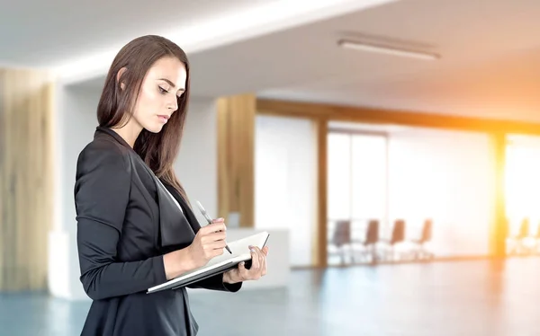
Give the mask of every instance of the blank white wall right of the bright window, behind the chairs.
<path id="1" fill-rule="evenodd" d="M 483 133 L 411 128 L 390 141 L 390 217 L 406 223 L 406 240 L 419 240 L 438 257 L 489 253 L 494 219 L 494 155 Z"/>

